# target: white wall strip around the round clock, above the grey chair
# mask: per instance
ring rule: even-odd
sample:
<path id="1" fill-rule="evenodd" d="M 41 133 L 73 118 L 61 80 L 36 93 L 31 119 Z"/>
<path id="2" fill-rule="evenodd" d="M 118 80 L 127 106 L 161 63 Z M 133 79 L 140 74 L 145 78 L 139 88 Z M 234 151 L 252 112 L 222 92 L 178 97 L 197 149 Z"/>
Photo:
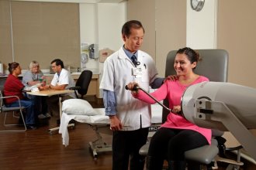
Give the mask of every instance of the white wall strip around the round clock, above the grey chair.
<path id="1" fill-rule="evenodd" d="M 216 49 L 217 1 L 206 0 L 200 12 L 192 10 L 187 0 L 186 46 L 192 49 Z"/>

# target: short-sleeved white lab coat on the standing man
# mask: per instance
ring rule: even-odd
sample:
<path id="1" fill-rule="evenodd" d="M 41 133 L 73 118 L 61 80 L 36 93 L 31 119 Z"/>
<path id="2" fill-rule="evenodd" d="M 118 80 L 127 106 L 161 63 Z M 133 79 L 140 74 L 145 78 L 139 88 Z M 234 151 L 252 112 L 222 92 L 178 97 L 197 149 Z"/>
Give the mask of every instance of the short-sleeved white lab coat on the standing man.
<path id="1" fill-rule="evenodd" d="M 130 82 L 139 83 L 140 87 L 149 90 L 149 84 L 157 76 L 154 60 L 143 51 L 137 52 L 137 61 L 143 70 L 141 77 L 133 76 L 133 68 L 136 68 L 130 58 L 121 47 L 116 53 L 109 56 L 104 63 L 104 70 L 100 89 L 114 91 L 116 94 L 116 116 L 123 124 L 123 131 L 133 131 L 140 128 L 140 116 L 142 128 L 151 124 L 150 105 L 132 97 L 130 90 L 125 90 Z"/>

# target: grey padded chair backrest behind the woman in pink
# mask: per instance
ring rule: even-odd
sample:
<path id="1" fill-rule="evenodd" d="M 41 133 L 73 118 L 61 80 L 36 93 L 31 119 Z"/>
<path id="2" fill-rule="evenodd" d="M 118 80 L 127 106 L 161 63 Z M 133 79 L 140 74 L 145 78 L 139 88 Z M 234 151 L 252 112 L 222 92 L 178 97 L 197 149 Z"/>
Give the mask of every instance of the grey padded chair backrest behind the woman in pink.
<path id="1" fill-rule="evenodd" d="M 202 58 L 197 63 L 195 73 L 206 76 L 210 81 L 227 82 L 228 53 L 224 49 L 195 49 Z M 167 55 L 165 66 L 165 77 L 176 75 L 174 62 L 177 50 L 170 51 Z M 164 105 L 168 106 L 168 100 L 164 100 Z M 163 109 L 162 122 L 166 120 L 168 111 Z"/>

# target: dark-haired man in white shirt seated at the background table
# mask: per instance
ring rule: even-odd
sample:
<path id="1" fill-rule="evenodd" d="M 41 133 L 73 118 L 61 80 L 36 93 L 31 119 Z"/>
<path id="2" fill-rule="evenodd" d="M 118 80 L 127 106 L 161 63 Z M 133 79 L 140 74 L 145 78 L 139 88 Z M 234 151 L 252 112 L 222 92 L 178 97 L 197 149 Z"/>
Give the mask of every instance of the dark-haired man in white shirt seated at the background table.
<path id="1" fill-rule="evenodd" d="M 51 83 L 44 87 L 39 87 L 40 90 L 65 90 L 69 87 L 74 87 L 75 83 L 69 71 L 64 69 L 64 63 L 61 59 L 54 59 L 51 63 L 51 68 L 54 70 L 54 78 Z M 62 101 L 74 98 L 74 93 L 62 95 Z M 47 104 L 53 116 L 57 116 L 57 124 L 60 124 L 60 106 L 59 97 L 57 95 L 48 97 Z"/>

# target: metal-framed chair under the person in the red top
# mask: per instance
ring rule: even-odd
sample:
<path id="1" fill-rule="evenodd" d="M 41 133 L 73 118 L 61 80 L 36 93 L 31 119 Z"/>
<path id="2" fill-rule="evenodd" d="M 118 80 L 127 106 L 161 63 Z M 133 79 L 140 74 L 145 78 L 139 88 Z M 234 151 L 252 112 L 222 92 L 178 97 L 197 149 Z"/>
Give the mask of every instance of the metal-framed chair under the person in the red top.
<path id="1" fill-rule="evenodd" d="M 17 96 L 8 96 L 4 97 L 2 93 L 3 88 L 0 87 L 0 113 L 5 113 L 5 118 L 4 118 L 4 126 L 9 127 L 9 126 L 19 126 L 19 125 L 24 125 L 24 129 L 22 130 L 2 130 L 0 132 L 18 132 L 18 131 L 26 131 L 26 124 L 24 121 L 24 117 L 22 114 L 22 110 L 25 109 L 25 107 L 22 107 L 20 102 L 19 102 L 19 107 L 5 107 L 5 98 L 10 98 L 10 97 L 16 97 L 19 100 L 19 97 Z M 6 117 L 8 113 L 12 113 L 12 117 L 16 117 L 15 113 L 19 112 L 19 118 L 21 117 L 22 124 L 6 124 Z"/>

